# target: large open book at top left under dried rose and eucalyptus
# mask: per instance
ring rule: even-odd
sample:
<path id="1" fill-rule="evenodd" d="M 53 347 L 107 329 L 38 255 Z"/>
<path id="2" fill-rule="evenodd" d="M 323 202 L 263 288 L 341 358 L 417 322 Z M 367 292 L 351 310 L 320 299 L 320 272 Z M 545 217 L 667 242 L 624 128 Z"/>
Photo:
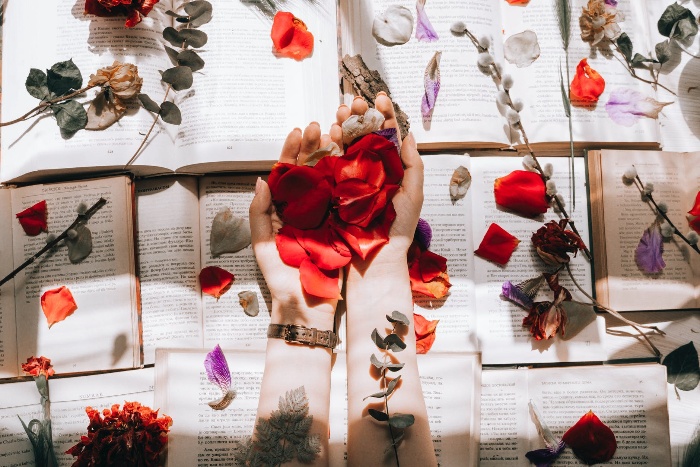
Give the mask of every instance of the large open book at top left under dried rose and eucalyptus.
<path id="1" fill-rule="evenodd" d="M 84 15 L 80 2 L 7 2 L 3 68 L 13 72 L 3 74 L 2 119 L 38 104 L 25 90 L 30 68 L 44 70 L 70 58 L 84 84 L 114 60 L 132 63 L 143 78 L 142 92 L 160 102 L 165 88 L 158 70 L 172 66 L 162 31 L 178 24 L 165 11 L 183 3 L 161 0 L 141 24 L 125 29 L 124 18 Z M 286 2 L 314 34 L 313 55 L 301 62 L 273 54 L 272 19 L 255 2 L 211 3 L 213 18 L 200 28 L 209 38 L 201 51 L 206 65 L 194 74 L 193 87 L 175 99 L 182 124 L 157 123 L 130 167 L 137 174 L 269 168 L 292 128 L 313 120 L 328 131 L 335 121 L 340 97 L 334 1 Z M 122 170 L 152 123 L 153 114 L 134 104 L 112 127 L 81 130 L 69 139 L 52 116 L 3 127 L 0 180 Z"/>

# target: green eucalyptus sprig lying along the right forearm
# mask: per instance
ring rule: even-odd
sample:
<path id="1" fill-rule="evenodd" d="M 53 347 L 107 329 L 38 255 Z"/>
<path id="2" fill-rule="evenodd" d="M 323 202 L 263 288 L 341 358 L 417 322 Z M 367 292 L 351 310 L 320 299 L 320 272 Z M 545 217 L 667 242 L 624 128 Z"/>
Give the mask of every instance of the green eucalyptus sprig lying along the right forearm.
<path id="1" fill-rule="evenodd" d="M 411 414 L 389 413 L 389 396 L 391 396 L 391 394 L 396 389 L 396 386 L 401 381 L 401 376 L 399 375 L 396 378 L 388 379 L 387 371 L 397 372 L 401 370 L 404 366 L 403 363 L 393 363 L 391 353 L 401 352 L 403 349 L 406 348 L 406 343 L 403 341 L 403 339 L 401 339 L 401 337 L 398 334 L 396 334 L 396 327 L 398 325 L 408 327 L 410 322 L 406 315 L 398 311 L 393 311 L 391 313 L 391 316 L 386 315 L 386 319 L 392 326 L 391 332 L 387 334 L 386 337 L 382 337 L 376 328 L 374 329 L 374 331 L 372 331 L 372 341 L 374 341 L 374 344 L 380 350 L 383 351 L 384 358 L 382 360 L 379 360 L 374 354 L 372 354 L 372 356 L 370 357 L 370 362 L 372 363 L 372 365 L 381 373 L 382 390 L 380 392 L 370 394 L 369 396 L 365 397 L 365 399 L 368 399 L 370 397 L 376 399 L 384 399 L 384 411 L 370 408 L 368 409 L 368 412 L 375 420 L 387 423 L 387 427 L 389 428 L 389 435 L 391 436 L 391 448 L 388 449 L 387 452 L 393 450 L 394 457 L 396 458 L 396 465 L 398 466 L 399 443 L 401 443 L 401 440 L 404 437 L 404 430 L 409 426 L 413 425 L 413 423 L 415 422 L 415 418 Z"/>

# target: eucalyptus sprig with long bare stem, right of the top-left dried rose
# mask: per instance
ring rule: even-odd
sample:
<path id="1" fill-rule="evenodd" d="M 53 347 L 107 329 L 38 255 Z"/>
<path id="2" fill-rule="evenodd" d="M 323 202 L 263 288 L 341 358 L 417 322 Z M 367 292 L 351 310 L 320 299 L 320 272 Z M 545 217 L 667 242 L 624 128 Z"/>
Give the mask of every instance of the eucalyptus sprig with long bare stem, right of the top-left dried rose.
<path id="1" fill-rule="evenodd" d="M 175 18 L 175 21 L 178 23 L 184 24 L 184 28 L 181 29 L 168 26 L 163 30 L 163 39 L 172 46 L 178 47 L 180 50 L 178 51 L 167 45 L 164 46 L 165 52 L 168 54 L 174 66 L 161 73 L 161 80 L 167 84 L 167 87 L 160 105 L 147 94 L 138 95 L 141 105 L 149 112 L 155 114 L 155 118 L 141 141 L 141 144 L 136 149 L 131 159 L 126 163 L 125 167 L 131 165 L 141 154 L 141 151 L 146 145 L 159 119 L 171 125 L 179 125 L 182 123 L 180 108 L 174 102 L 169 101 L 168 96 L 171 90 L 182 91 L 184 89 L 189 89 L 193 82 L 192 73 L 204 68 L 204 60 L 202 57 L 189 47 L 200 49 L 206 45 L 208 40 L 207 34 L 197 28 L 211 21 L 211 3 L 206 0 L 187 2 L 183 5 L 183 10 L 184 13 L 178 13 L 172 10 L 165 12 L 167 15 Z"/>

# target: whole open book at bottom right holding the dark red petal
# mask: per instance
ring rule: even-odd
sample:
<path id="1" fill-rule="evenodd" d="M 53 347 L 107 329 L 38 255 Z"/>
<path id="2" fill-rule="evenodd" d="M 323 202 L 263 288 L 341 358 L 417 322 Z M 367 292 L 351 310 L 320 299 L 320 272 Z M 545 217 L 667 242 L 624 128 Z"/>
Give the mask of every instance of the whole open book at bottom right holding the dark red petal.
<path id="1" fill-rule="evenodd" d="M 617 450 L 601 465 L 671 465 L 662 365 L 614 365 L 484 371 L 481 383 L 482 467 L 527 466 L 544 448 L 528 409 L 534 403 L 554 436 L 592 410 L 615 434 Z M 556 465 L 586 465 L 566 449 Z"/>

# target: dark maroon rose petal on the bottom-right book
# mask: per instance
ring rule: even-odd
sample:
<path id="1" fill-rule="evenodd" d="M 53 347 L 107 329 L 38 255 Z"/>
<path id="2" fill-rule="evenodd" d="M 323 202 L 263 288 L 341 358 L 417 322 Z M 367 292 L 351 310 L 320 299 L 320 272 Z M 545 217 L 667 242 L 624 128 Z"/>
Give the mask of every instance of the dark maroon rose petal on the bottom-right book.
<path id="1" fill-rule="evenodd" d="M 615 434 L 592 410 L 564 433 L 562 441 L 588 464 L 606 462 L 617 450 Z"/>

